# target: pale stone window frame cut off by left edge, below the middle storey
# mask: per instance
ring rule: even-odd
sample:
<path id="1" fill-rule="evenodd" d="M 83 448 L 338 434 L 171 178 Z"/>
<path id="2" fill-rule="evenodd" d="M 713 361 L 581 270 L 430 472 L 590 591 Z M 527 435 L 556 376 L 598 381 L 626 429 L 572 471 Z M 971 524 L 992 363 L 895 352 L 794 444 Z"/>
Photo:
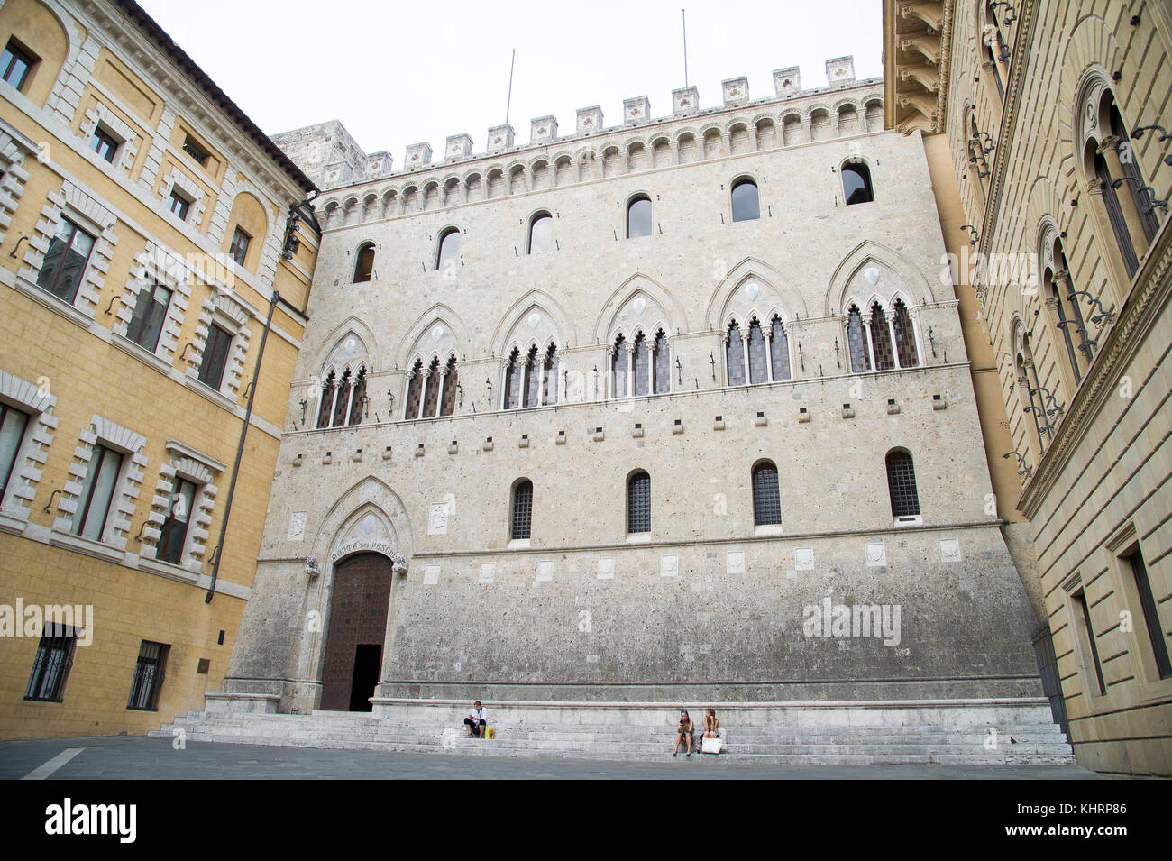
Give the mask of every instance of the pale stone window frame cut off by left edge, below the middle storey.
<path id="1" fill-rule="evenodd" d="M 42 388 L 0 370 L 0 401 L 28 412 L 30 419 L 12 467 L 22 480 L 9 481 L 5 498 L 0 499 L 0 529 L 23 532 L 28 525 L 29 504 L 36 497 L 49 446 L 53 445 L 53 433 L 60 422 L 53 415 L 57 396 L 48 387 Z"/>

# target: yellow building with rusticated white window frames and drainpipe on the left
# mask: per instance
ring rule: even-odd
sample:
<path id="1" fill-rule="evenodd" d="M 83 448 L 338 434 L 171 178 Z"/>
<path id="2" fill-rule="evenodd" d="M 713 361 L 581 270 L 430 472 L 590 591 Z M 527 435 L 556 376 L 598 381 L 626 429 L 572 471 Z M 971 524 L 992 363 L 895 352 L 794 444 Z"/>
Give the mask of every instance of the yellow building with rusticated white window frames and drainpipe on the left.
<path id="1" fill-rule="evenodd" d="M 0 738 L 144 733 L 250 595 L 315 189 L 129 0 L 0 47 Z"/>

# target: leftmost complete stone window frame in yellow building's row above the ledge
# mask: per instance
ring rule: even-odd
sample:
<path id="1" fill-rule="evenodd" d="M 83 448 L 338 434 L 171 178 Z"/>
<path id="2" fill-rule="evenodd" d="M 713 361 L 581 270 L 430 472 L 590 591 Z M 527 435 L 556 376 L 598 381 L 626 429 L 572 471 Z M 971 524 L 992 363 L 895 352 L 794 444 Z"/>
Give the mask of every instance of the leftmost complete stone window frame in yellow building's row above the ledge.
<path id="1" fill-rule="evenodd" d="M 56 235 L 62 219 L 73 221 L 79 228 L 94 237 L 94 248 L 86 262 L 86 271 L 82 273 L 81 283 L 77 285 L 77 293 L 74 295 L 73 302 L 53 295 L 36 283 L 41 267 L 45 265 L 45 255 L 49 251 L 49 244 Z M 74 322 L 89 328 L 89 324 L 96 319 L 105 274 L 110 271 L 110 264 L 114 260 L 114 246 L 118 241 L 114 227 L 117 223 L 118 217 L 101 200 L 70 180 L 62 180 L 61 189 L 50 192 L 46 205 L 41 207 L 41 218 L 36 221 L 33 235 L 28 240 L 28 251 L 25 252 L 23 257 L 27 265 L 16 273 L 18 289 L 41 305 L 63 312 Z"/>

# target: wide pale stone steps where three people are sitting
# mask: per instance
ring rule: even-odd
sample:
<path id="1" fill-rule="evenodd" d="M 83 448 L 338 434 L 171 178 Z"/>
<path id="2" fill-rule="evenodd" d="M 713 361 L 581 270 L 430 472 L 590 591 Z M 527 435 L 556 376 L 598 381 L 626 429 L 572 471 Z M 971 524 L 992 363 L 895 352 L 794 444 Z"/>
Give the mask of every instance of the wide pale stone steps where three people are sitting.
<path id="1" fill-rule="evenodd" d="M 154 737 L 297 747 L 653 761 L 670 757 L 679 706 L 486 703 L 495 739 L 466 738 L 464 702 L 375 698 L 373 712 L 189 712 Z M 706 761 L 771 764 L 1074 764 L 1044 698 L 723 703 L 724 750 Z M 699 724 L 703 706 L 688 706 Z M 683 753 L 680 754 L 681 757 Z"/>

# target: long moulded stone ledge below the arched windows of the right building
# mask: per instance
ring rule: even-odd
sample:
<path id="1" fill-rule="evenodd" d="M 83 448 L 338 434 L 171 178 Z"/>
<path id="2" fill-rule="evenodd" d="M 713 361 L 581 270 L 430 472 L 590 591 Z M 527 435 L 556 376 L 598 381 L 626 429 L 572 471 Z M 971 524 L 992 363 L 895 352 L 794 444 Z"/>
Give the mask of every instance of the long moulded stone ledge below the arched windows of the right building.
<path id="1" fill-rule="evenodd" d="M 1136 351 L 1145 343 L 1172 296 L 1172 228 L 1164 226 L 1144 264 L 1136 273 L 1132 288 L 1086 378 L 1075 392 L 1054 439 L 1038 462 L 1034 476 L 1017 500 L 1017 510 L 1034 519 L 1042 503 L 1050 497 L 1058 479 L 1065 474 L 1076 450 L 1082 444 L 1106 399 L 1116 396 L 1118 381 Z"/>

